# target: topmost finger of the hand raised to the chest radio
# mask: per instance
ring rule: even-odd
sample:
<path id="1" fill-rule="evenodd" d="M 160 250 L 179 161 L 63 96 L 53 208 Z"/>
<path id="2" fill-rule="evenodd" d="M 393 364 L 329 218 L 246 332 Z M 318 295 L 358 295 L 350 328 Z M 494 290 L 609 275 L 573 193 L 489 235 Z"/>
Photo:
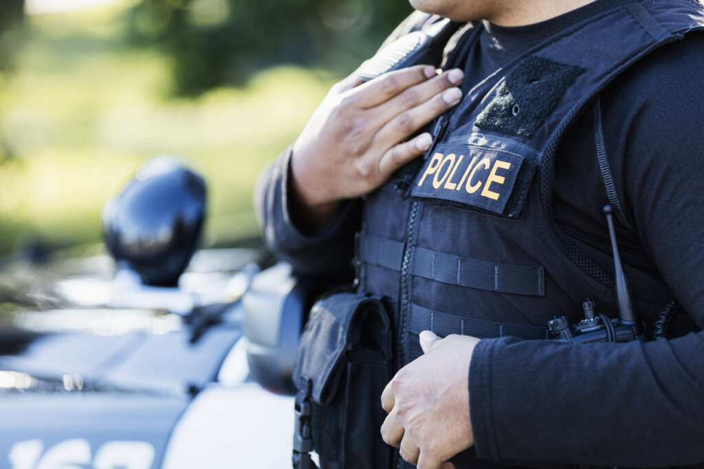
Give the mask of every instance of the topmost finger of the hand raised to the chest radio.
<path id="1" fill-rule="evenodd" d="M 360 108 L 372 108 L 384 101 L 389 101 L 408 87 L 425 82 L 434 76 L 435 69 L 430 65 L 415 65 L 394 70 L 358 86 L 354 91 L 354 100 Z"/>

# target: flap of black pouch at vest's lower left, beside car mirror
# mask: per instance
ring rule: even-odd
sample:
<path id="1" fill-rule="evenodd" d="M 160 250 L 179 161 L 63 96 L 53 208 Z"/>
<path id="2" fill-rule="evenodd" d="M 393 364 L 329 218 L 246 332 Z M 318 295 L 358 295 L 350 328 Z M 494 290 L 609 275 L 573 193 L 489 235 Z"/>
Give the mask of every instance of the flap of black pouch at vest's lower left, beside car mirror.
<path id="1" fill-rule="evenodd" d="M 391 354 L 391 328 L 379 297 L 339 293 L 313 305 L 294 361 L 294 384 L 312 382 L 311 399 L 325 406 L 335 396 L 341 364 L 355 349 Z"/>

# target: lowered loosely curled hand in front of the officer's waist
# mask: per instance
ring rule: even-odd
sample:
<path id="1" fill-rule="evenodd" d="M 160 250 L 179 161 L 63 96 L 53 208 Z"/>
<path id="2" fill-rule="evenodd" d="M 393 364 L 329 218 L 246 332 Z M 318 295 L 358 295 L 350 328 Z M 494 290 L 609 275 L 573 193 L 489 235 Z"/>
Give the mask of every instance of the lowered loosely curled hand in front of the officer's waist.
<path id="1" fill-rule="evenodd" d="M 425 354 L 401 368 L 382 393 L 389 413 L 382 437 L 419 469 L 453 469 L 444 461 L 474 445 L 467 383 L 477 342 L 466 335 L 441 339 L 424 330 Z"/>

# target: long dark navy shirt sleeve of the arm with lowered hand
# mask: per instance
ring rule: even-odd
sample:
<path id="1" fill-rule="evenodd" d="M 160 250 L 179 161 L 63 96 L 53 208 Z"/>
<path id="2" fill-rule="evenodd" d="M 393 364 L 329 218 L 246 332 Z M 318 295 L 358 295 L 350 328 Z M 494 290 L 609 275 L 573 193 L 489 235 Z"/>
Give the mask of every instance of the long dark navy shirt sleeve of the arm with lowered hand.
<path id="1" fill-rule="evenodd" d="M 612 158 L 612 169 L 622 203 L 647 257 L 698 326 L 704 77 L 691 69 L 703 58 L 701 35 L 665 46 L 604 95 L 607 145 L 621 142 L 612 144 L 622 155 Z M 704 462 L 704 332 L 579 346 L 482 340 L 469 391 L 481 458 L 626 467 Z"/>

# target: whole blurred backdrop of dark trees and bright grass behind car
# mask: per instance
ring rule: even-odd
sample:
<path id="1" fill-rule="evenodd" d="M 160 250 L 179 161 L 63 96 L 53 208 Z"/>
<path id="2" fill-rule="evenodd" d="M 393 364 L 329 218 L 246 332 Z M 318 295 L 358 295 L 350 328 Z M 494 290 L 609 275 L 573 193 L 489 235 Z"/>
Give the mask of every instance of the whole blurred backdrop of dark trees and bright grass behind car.
<path id="1" fill-rule="evenodd" d="M 258 233 L 258 174 L 410 12 L 406 0 L 22 5 L 0 0 L 0 255 L 98 242 L 103 204 L 160 153 L 205 176 L 206 245 Z"/>

